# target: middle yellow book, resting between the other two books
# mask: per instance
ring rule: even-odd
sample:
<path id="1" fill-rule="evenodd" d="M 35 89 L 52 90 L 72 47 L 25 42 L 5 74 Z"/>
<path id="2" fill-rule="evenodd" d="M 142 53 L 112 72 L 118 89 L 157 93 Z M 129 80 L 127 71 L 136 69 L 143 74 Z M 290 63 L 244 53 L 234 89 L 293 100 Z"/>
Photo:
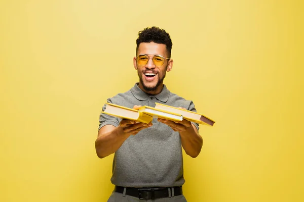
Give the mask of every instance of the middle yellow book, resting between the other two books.
<path id="1" fill-rule="evenodd" d="M 167 112 L 161 109 L 156 109 L 149 106 L 143 106 L 138 109 L 139 112 L 153 116 L 154 118 L 166 119 L 170 121 L 182 121 L 181 114 Z"/>

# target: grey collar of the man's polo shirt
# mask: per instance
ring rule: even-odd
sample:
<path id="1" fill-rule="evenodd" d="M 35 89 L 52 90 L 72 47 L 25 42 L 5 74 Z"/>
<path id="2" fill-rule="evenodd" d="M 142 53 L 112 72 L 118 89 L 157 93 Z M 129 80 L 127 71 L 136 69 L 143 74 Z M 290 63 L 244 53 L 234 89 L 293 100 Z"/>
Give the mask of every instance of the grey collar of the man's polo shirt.
<path id="1" fill-rule="evenodd" d="M 156 95 L 150 95 L 145 93 L 142 89 L 138 87 L 138 84 L 139 83 L 135 83 L 134 86 L 131 88 L 131 92 L 136 99 L 143 101 L 143 100 L 147 100 L 150 96 L 155 96 L 161 102 L 163 103 L 167 102 L 170 95 L 170 91 L 168 90 L 165 84 L 162 91 Z"/>

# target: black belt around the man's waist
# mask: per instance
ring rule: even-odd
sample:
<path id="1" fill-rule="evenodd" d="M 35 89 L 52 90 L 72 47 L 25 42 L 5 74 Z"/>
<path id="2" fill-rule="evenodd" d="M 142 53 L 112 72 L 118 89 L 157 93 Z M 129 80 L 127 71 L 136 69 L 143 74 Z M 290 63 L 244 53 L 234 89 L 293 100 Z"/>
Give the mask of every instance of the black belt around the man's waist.
<path id="1" fill-rule="evenodd" d="M 123 186 L 115 186 L 114 191 L 119 193 L 124 193 Z M 181 186 L 174 186 L 174 187 L 156 187 L 156 188 L 132 188 L 126 187 L 126 195 L 138 197 L 139 199 L 157 199 L 157 198 L 167 198 L 169 197 L 169 188 L 170 188 L 170 196 L 173 195 L 181 195 L 182 194 L 182 187 Z"/>

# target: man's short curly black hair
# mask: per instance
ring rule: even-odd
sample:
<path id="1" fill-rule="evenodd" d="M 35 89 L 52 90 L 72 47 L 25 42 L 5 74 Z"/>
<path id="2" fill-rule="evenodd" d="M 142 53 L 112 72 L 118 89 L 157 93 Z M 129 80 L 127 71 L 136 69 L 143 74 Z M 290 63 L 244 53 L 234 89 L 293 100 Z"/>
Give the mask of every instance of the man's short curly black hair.
<path id="1" fill-rule="evenodd" d="M 153 26 L 146 27 L 142 31 L 139 31 L 138 38 L 136 39 L 136 54 L 138 46 L 142 42 L 155 42 L 165 44 L 169 58 L 171 57 L 172 40 L 170 38 L 170 35 L 164 29 Z"/>

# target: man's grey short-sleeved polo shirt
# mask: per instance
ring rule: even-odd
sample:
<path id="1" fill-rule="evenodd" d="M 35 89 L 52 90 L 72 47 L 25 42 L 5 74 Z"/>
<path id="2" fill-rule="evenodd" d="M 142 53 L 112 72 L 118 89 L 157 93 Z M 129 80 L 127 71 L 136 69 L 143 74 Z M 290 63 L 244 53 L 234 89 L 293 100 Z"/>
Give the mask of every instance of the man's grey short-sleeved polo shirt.
<path id="1" fill-rule="evenodd" d="M 157 95 L 149 95 L 138 87 L 107 99 L 128 108 L 134 105 L 155 107 L 162 103 L 173 107 L 183 107 L 196 112 L 191 100 L 170 92 L 166 85 Z M 103 106 L 103 110 L 105 106 Z M 100 114 L 99 128 L 105 125 L 119 126 L 122 119 Z M 153 119 L 153 126 L 128 137 L 116 151 L 112 165 L 112 184 L 126 187 L 169 187 L 183 185 L 183 159 L 178 132 Z M 194 123 L 199 130 L 199 125 Z"/>

